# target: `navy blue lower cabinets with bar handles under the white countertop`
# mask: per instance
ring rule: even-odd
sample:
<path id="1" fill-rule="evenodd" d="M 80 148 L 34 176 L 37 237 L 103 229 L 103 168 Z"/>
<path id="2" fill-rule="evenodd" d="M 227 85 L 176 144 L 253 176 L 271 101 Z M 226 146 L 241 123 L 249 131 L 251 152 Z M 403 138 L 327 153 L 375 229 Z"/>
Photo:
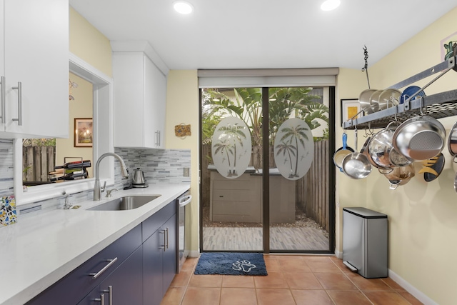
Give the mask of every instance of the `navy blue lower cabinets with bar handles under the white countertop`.
<path id="1" fill-rule="evenodd" d="M 176 274 L 175 206 L 171 201 L 26 305 L 159 305 Z"/>

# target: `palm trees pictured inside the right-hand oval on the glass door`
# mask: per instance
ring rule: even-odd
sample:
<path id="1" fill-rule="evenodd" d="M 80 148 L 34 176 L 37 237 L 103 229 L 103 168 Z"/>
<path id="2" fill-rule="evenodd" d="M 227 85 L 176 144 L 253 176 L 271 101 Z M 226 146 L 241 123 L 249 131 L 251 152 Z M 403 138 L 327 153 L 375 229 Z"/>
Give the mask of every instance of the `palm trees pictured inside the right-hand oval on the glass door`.
<path id="1" fill-rule="evenodd" d="M 281 151 L 284 151 L 283 154 L 285 155 L 285 151 L 288 151 L 289 161 L 291 163 L 291 174 L 289 175 L 289 178 L 298 177 L 298 143 L 301 144 L 301 146 L 303 146 L 303 149 L 306 149 L 305 139 L 308 140 L 308 136 L 306 135 L 307 130 L 308 129 L 306 129 L 305 126 L 300 125 L 284 127 L 280 130 L 280 132 L 283 133 L 283 136 L 281 136 L 281 144 L 276 146 L 276 148 L 278 149 L 276 155 L 280 154 Z M 296 154 L 293 150 L 296 151 Z M 294 168 L 292 165 L 291 153 L 293 153 L 292 155 L 295 158 Z"/>

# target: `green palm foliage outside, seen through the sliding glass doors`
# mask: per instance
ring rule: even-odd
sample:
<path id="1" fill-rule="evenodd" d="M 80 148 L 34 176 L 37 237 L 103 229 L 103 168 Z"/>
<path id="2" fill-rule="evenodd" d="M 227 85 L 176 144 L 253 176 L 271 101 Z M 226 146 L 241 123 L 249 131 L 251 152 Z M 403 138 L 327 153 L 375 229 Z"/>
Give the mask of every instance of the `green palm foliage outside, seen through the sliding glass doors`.
<path id="1" fill-rule="evenodd" d="M 268 130 L 269 141 L 273 144 L 278 127 L 287 119 L 302 119 L 312 129 L 321 126 L 319 121 L 328 126 L 328 107 L 316 102 L 320 96 L 311 95 L 312 88 L 270 88 L 268 89 Z M 228 92 L 227 94 L 232 92 Z M 211 142 L 214 128 L 225 116 L 242 119 L 251 131 L 252 145 L 262 145 L 262 99 L 261 88 L 236 88 L 233 96 L 228 96 L 218 89 L 203 91 L 202 129 L 204 143 Z M 320 139 L 328 139 L 327 132 Z M 316 139 L 315 139 L 316 141 Z"/>

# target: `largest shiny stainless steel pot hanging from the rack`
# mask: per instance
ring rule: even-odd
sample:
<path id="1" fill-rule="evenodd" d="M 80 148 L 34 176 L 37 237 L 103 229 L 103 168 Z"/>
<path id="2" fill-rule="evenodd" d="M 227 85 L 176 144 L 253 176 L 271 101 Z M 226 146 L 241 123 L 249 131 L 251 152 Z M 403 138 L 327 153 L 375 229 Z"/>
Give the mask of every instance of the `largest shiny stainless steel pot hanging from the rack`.
<path id="1" fill-rule="evenodd" d="M 431 116 L 416 116 L 404 121 L 393 134 L 393 147 L 411 160 L 425 160 L 443 150 L 446 129 Z"/>

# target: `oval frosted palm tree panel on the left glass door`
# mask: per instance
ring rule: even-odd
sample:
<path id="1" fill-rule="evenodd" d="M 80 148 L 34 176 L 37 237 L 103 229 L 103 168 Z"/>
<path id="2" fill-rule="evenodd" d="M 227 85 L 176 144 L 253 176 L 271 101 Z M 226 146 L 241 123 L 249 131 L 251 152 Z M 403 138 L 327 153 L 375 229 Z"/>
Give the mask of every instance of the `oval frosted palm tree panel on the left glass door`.
<path id="1" fill-rule="evenodd" d="M 214 130 L 211 155 L 222 176 L 236 179 L 251 160 L 251 133 L 248 126 L 234 116 L 222 119 Z"/>

